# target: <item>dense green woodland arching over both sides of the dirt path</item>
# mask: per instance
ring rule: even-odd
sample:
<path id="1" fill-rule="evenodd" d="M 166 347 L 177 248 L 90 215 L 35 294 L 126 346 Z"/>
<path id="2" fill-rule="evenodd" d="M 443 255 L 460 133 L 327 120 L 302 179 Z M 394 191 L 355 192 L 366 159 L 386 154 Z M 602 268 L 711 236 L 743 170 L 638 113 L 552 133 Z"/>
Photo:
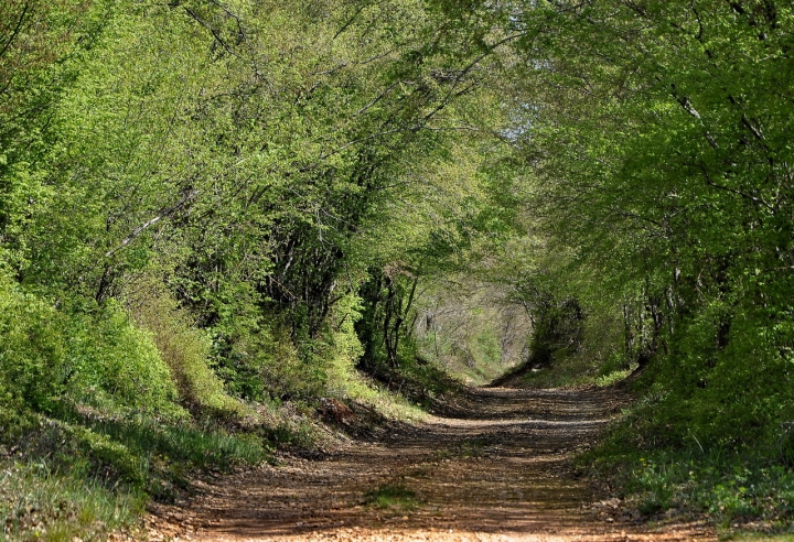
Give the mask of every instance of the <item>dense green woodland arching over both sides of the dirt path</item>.
<path id="1" fill-rule="evenodd" d="M 587 467 L 785 529 L 793 54 L 777 0 L 4 0 L 4 535 L 511 368 L 631 373 Z"/>

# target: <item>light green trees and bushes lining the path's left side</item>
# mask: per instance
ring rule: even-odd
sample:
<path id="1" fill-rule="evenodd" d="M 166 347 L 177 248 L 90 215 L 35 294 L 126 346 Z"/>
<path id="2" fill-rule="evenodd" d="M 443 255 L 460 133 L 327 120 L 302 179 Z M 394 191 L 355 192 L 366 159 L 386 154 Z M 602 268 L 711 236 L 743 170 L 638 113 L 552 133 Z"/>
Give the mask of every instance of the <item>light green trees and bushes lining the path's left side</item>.
<path id="1" fill-rule="evenodd" d="M 354 326 L 371 278 L 504 219 L 482 142 L 454 165 L 492 117 L 485 41 L 412 0 L 3 4 L 3 442 L 99 506 L 310 446 L 322 397 L 418 418 L 358 372 Z M 380 314 L 408 317 L 404 293 Z M 388 334 L 395 375 L 408 335 Z M 438 373 L 407 367 L 423 397 Z M 103 535 L 68 518 L 69 540 Z"/>

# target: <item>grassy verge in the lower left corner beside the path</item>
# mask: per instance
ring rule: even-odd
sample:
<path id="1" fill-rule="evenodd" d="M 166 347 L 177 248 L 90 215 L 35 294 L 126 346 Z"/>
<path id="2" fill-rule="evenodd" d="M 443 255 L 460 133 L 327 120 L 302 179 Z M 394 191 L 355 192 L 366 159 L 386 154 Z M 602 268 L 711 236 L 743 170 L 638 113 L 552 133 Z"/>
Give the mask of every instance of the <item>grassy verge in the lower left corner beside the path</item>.
<path id="1" fill-rule="evenodd" d="M 265 433 L 77 409 L 22 414 L 0 446 L 0 540 L 138 536 L 149 500 L 172 500 L 192 476 L 267 460 Z"/>

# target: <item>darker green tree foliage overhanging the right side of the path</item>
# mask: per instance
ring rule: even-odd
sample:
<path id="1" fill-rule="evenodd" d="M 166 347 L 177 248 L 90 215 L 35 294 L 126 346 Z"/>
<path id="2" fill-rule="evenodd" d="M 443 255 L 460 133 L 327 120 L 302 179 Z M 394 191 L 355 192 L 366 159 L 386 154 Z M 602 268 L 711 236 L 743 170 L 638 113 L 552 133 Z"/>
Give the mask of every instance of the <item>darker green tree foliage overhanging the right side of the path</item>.
<path id="1" fill-rule="evenodd" d="M 666 446 L 755 449 L 792 415 L 793 21 L 782 2 L 610 1 L 506 22 L 532 228 L 567 254 L 547 282 L 623 321 L 622 357 L 664 397 L 643 434 Z"/>

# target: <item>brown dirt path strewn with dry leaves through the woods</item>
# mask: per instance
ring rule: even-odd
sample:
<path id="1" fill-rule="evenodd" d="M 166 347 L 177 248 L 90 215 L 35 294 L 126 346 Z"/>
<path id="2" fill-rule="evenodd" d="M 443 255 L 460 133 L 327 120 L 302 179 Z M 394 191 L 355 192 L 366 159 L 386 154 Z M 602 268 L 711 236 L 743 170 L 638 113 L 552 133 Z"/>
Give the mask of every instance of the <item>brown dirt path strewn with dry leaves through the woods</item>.
<path id="1" fill-rule="evenodd" d="M 701 524 L 651 530 L 598 501 L 570 466 L 620 406 L 603 390 L 475 390 L 466 406 L 377 443 L 286 457 L 200 485 L 158 511 L 180 540 L 713 540 Z M 387 508 L 374 500 L 382 497 Z"/>

